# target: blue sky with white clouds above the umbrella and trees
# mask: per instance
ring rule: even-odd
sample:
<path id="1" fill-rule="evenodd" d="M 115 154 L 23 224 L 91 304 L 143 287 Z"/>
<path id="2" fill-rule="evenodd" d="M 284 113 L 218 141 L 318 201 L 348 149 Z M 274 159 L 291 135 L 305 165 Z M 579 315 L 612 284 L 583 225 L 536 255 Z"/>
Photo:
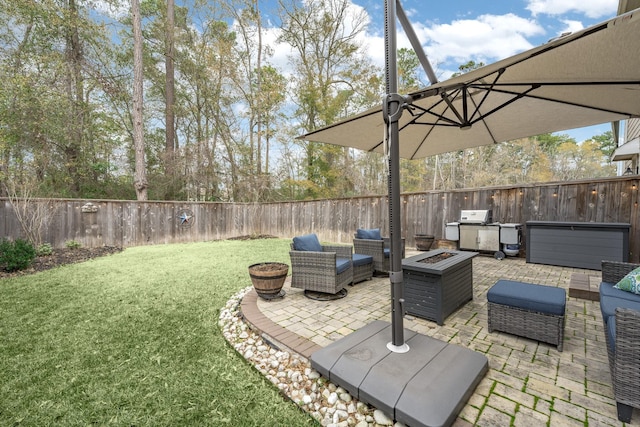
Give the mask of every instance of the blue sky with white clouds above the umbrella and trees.
<path id="1" fill-rule="evenodd" d="M 351 0 L 370 25 L 363 44 L 384 65 L 384 1 Z M 268 3 L 268 2 L 267 2 Z M 614 17 L 618 0 L 401 0 L 439 80 L 470 60 L 489 64 Z M 398 47 L 411 45 L 398 25 Z M 273 60 L 285 62 L 287 49 Z M 426 77 L 423 80 L 428 81 Z M 610 130 L 609 124 L 561 133 L 582 142 Z"/>

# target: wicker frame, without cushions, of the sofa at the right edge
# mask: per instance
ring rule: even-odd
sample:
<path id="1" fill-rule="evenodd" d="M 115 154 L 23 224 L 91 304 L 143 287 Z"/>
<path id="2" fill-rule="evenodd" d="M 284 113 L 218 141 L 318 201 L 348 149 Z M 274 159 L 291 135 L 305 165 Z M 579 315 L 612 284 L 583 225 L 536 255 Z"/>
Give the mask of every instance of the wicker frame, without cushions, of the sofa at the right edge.
<path id="1" fill-rule="evenodd" d="M 638 267 L 640 264 L 602 261 L 602 281 L 618 283 Z M 605 333 L 618 419 L 628 423 L 633 408 L 640 408 L 640 311 L 616 308 L 615 323 L 602 320 L 615 337 L 615 342 L 610 342 L 609 334 Z"/>

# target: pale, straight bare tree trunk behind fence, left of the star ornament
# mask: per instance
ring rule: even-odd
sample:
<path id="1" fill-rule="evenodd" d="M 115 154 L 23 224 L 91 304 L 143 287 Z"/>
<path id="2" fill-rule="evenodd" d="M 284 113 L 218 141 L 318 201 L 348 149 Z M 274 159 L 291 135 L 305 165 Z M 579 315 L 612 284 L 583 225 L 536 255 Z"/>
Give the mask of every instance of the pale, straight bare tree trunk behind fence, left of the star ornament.
<path id="1" fill-rule="evenodd" d="M 135 148 L 135 176 L 133 185 L 138 200 L 147 200 L 147 171 L 144 159 L 143 75 L 142 75 L 142 18 L 140 1 L 131 0 L 133 15 L 133 145 Z"/>

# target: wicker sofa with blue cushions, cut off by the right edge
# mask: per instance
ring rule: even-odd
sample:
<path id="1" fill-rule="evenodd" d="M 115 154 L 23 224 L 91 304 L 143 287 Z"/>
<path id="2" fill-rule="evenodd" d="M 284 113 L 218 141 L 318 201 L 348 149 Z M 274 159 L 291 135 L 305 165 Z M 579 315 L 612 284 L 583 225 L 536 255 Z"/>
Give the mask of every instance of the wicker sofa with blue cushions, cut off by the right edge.
<path id="1" fill-rule="evenodd" d="M 631 421 L 640 408 L 640 295 L 614 288 L 640 264 L 602 261 L 600 310 L 618 419 Z"/>

